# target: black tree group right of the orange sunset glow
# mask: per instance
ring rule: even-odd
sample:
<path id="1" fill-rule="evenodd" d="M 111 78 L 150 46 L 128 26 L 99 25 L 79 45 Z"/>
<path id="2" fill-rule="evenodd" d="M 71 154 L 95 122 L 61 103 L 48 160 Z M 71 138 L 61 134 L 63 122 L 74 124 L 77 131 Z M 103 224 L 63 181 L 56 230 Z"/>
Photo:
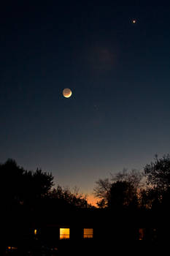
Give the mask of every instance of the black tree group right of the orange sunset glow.
<path id="1" fill-rule="evenodd" d="M 170 206 L 170 155 L 145 165 L 144 170 L 128 170 L 96 181 L 94 194 L 99 208 L 151 209 L 168 211 Z"/>

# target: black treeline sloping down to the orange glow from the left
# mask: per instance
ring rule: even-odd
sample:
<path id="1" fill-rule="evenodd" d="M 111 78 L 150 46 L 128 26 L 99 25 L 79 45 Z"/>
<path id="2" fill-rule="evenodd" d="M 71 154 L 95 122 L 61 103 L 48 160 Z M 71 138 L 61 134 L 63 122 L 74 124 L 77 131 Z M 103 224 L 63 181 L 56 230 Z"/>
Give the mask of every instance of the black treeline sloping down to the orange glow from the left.
<path id="1" fill-rule="evenodd" d="M 37 206 L 58 206 L 58 208 L 89 208 L 85 195 L 79 193 L 77 187 L 74 191 L 57 185 L 53 188 L 52 173 L 24 170 L 14 159 L 0 164 L 1 175 L 1 205 L 4 210 L 25 207 L 34 211 Z"/>

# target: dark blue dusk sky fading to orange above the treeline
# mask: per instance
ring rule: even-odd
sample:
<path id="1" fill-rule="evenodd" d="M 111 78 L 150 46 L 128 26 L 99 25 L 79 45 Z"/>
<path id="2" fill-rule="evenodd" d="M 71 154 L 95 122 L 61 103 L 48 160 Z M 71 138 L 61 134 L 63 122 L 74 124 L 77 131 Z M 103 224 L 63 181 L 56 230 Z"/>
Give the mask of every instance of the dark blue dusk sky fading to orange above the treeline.
<path id="1" fill-rule="evenodd" d="M 170 1 L 39 3 L 1 4 L 0 162 L 90 194 L 168 154 Z"/>

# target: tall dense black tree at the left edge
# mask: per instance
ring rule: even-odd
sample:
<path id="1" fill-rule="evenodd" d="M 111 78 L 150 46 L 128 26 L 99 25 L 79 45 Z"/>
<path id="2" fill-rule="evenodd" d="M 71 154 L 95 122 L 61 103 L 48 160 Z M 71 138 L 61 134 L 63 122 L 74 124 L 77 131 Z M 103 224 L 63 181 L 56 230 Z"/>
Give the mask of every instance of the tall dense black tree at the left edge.
<path id="1" fill-rule="evenodd" d="M 4 204 L 34 203 L 45 197 L 53 186 L 51 173 L 24 170 L 14 159 L 0 165 L 1 197 Z"/>

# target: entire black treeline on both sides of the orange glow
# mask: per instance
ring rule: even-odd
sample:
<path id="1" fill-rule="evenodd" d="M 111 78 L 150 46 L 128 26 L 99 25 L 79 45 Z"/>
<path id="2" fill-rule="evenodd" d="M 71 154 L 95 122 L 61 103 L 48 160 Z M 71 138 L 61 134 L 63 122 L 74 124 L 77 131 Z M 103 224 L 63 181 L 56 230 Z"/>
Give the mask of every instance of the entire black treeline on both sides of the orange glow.
<path id="1" fill-rule="evenodd" d="M 9 211 L 26 208 L 36 211 L 37 208 L 93 208 L 87 197 L 59 184 L 54 187 L 53 175 L 36 169 L 25 170 L 14 159 L 0 164 L 1 207 L 4 215 Z M 170 198 L 170 155 L 163 155 L 144 170 L 111 174 L 111 178 L 96 181 L 94 195 L 98 197 L 98 208 L 113 210 L 152 209 L 168 211 Z"/>

